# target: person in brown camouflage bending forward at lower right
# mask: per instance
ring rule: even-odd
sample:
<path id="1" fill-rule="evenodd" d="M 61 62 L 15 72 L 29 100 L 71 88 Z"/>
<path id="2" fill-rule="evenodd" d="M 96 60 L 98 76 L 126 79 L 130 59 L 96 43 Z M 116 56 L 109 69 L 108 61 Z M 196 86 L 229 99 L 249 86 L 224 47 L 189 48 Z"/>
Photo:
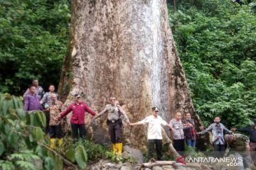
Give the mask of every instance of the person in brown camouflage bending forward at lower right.
<path id="1" fill-rule="evenodd" d="M 242 134 L 225 135 L 225 141 L 228 143 L 226 154 L 235 154 L 235 157 L 242 160 L 242 165 L 238 166 L 239 170 L 250 169 L 250 140 L 249 137 Z"/>

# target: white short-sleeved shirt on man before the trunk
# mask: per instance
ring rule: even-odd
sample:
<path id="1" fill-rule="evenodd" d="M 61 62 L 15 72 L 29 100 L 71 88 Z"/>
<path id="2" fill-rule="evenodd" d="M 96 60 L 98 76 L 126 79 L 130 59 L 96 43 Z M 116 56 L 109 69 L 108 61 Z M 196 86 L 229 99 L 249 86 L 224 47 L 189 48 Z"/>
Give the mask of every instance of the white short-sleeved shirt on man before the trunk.
<path id="1" fill-rule="evenodd" d="M 148 140 L 162 140 L 161 135 L 161 125 L 167 125 L 159 115 L 154 117 L 154 115 L 149 115 L 142 120 L 142 123 L 148 124 Z"/>

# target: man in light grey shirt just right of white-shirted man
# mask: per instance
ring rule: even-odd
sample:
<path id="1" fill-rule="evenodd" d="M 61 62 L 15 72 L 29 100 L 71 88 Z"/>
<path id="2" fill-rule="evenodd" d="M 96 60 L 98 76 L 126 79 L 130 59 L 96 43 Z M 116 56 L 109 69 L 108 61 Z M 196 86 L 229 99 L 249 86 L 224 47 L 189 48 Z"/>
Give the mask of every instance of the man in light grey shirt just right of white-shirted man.
<path id="1" fill-rule="evenodd" d="M 183 128 L 181 122 L 181 112 L 177 112 L 175 118 L 169 123 L 171 125 L 171 131 L 174 133 L 174 149 L 178 154 L 183 155 L 185 151 L 185 140 L 183 130 L 188 129 L 188 127 Z M 191 127 L 191 125 L 189 125 Z"/>

